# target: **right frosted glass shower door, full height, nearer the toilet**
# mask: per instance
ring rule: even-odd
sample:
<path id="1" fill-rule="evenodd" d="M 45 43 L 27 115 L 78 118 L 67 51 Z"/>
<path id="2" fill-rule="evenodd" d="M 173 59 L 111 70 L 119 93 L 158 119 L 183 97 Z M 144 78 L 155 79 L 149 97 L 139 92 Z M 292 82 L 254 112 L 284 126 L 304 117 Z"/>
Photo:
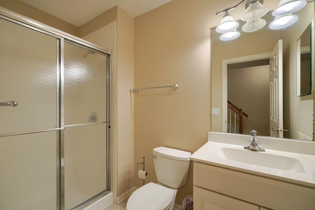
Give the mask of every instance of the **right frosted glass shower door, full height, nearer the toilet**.
<path id="1" fill-rule="evenodd" d="M 65 210 L 108 189 L 106 55 L 64 43 Z"/>

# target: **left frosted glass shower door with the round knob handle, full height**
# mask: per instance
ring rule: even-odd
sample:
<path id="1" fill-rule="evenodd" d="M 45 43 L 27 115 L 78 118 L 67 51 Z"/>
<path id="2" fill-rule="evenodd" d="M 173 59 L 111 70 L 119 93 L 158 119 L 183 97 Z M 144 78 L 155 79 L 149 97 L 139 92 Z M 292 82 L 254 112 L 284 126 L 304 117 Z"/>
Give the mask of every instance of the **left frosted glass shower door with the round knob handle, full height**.
<path id="1" fill-rule="evenodd" d="M 4 19 L 0 29 L 0 209 L 56 210 L 60 39 Z"/>

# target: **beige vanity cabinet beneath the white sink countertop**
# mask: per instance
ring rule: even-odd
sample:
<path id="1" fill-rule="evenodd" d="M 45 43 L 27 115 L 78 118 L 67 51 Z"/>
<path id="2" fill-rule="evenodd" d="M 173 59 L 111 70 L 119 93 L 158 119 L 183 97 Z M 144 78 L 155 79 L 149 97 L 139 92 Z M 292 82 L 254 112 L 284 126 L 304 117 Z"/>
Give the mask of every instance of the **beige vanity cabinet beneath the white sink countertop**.
<path id="1" fill-rule="evenodd" d="M 315 189 L 214 165 L 193 164 L 194 210 L 313 210 Z"/>

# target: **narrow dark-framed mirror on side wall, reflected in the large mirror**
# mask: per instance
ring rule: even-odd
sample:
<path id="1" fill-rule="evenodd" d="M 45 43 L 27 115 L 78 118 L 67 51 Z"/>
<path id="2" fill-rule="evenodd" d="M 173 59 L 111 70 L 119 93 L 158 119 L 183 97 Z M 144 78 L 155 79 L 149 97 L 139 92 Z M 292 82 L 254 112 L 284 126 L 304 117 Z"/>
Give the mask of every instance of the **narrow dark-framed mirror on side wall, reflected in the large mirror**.
<path id="1" fill-rule="evenodd" d="M 308 25 L 300 38 L 296 41 L 296 92 L 297 96 L 312 94 L 313 66 L 312 66 L 312 26 Z"/>

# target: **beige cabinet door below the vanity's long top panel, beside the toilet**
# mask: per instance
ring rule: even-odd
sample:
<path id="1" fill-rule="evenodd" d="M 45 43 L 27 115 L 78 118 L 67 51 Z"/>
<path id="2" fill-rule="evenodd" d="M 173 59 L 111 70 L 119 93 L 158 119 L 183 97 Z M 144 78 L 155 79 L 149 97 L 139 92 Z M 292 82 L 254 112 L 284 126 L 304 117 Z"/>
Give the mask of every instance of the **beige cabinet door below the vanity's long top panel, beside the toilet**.
<path id="1" fill-rule="evenodd" d="M 258 206 L 193 187 L 194 210 L 259 210 Z"/>

